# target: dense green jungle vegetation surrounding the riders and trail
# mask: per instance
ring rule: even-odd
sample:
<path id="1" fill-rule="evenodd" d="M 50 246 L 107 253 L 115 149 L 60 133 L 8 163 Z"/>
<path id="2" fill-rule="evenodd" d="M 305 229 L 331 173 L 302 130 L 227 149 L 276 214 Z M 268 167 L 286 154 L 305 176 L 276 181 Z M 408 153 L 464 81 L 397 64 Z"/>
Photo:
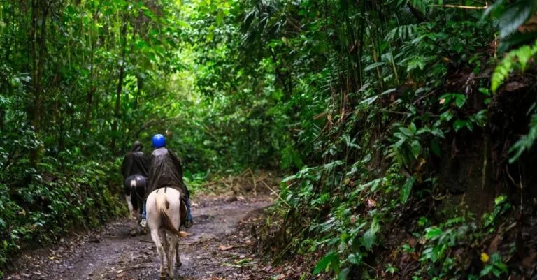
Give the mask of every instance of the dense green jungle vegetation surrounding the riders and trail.
<path id="1" fill-rule="evenodd" d="M 0 267 L 124 214 L 122 155 L 166 133 L 194 192 L 287 175 L 261 249 L 303 279 L 535 279 L 536 10 L 0 1 Z"/>

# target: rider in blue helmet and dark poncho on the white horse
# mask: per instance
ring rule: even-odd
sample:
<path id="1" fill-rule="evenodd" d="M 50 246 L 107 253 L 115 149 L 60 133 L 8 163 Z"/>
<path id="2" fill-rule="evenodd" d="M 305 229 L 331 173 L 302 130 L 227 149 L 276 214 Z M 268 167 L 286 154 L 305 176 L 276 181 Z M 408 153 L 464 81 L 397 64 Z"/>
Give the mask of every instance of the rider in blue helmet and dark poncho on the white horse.
<path id="1" fill-rule="evenodd" d="M 190 213 L 190 193 L 182 179 L 181 161 L 171 149 L 166 149 L 164 135 L 157 134 L 153 136 L 152 144 L 155 150 L 151 154 L 148 188 L 145 191 L 145 198 L 147 199 L 152 191 L 159 188 L 173 188 L 180 191 L 183 195 L 182 200 L 187 206 L 187 221 L 185 221 L 184 226 L 189 228 L 193 223 L 192 214 Z"/>

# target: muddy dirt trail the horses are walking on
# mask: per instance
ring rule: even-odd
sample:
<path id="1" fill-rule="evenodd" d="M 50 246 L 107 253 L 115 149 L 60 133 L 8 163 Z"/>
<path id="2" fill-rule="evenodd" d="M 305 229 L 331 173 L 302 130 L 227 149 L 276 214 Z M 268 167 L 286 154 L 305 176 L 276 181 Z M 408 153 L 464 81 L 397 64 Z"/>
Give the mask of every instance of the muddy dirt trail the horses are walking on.
<path id="1" fill-rule="evenodd" d="M 231 201 L 235 200 L 235 201 Z M 174 279 L 264 279 L 250 254 L 248 233 L 236 230 L 250 212 L 271 205 L 268 196 L 202 198 L 192 204 L 195 225 L 182 239 L 182 266 Z M 133 221 L 108 223 L 103 230 L 53 249 L 24 253 L 4 279 L 142 280 L 158 279 L 159 259 L 149 234 L 131 237 Z M 261 271 L 261 272 L 259 272 Z"/>

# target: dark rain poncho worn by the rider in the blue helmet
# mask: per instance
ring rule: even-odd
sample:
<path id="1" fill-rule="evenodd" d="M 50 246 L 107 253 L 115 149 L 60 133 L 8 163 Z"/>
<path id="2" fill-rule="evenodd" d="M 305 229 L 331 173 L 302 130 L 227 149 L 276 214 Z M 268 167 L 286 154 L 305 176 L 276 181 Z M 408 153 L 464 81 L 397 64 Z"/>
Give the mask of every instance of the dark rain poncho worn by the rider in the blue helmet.
<path id="1" fill-rule="evenodd" d="M 162 147 L 153 151 L 148 179 L 146 198 L 152 191 L 163 187 L 177 189 L 186 199 L 189 198 L 187 186 L 182 180 L 181 161 L 169 149 Z"/>

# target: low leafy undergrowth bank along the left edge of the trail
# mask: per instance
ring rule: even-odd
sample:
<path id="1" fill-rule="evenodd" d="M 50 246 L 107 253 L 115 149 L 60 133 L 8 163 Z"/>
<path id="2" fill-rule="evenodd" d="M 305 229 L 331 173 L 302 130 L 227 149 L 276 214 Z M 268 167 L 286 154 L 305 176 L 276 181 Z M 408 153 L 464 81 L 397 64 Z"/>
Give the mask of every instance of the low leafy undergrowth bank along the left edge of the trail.
<path id="1" fill-rule="evenodd" d="M 0 184 L 0 266 L 25 244 L 48 244 L 124 214 L 123 200 L 113 196 L 121 190 L 116 170 L 115 164 L 87 162 L 44 178 L 34 174 L 27 186 Z"/>

